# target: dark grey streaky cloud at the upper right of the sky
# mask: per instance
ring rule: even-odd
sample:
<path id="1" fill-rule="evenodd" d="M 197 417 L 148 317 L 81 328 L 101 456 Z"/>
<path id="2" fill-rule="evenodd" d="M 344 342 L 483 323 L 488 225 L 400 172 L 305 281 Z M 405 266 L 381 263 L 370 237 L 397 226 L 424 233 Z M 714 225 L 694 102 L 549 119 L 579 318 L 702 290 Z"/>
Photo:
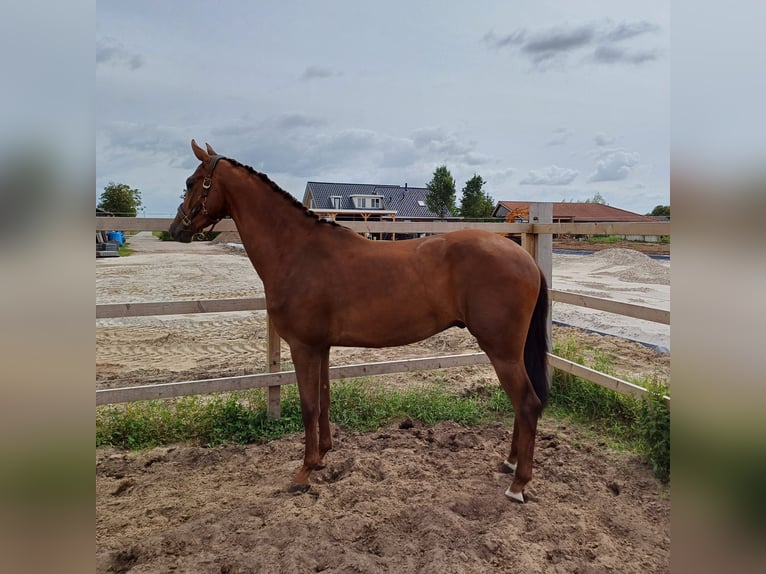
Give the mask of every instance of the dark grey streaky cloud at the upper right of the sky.
<path id="1" fill-rule="evenodd" d="M 659 51 L 647 47 L 628 48 L 623 44 L 659 31 L 657 24 L 646 20 L 620 23 L 605 20 L 543 30 L 520 28 L 501 36 L 490 31 L 482 40 L 490 48 L 518 53 L 538 69 L 554 63 L 564 64 L 572 55 L 581 56 L 583 62 L 639 65 L 658 59 Z"/>

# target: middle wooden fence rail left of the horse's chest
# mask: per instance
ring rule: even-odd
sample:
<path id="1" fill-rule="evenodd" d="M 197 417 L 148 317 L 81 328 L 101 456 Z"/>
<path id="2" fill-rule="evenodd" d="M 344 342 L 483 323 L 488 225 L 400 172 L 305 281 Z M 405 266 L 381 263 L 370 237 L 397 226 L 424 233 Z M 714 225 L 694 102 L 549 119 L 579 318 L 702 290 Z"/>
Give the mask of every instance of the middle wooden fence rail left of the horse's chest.
<path id="1" fill-rule="evenodd" d="M 107 303 L 96 305 L 96 319 L 144 317 L 151 315 L 186 315 L 190 313 L 229 313 L 233 311 L 263 311 L 266 299 L 204 299 L 200 301 L 157 301 L 152 303 Z"/>

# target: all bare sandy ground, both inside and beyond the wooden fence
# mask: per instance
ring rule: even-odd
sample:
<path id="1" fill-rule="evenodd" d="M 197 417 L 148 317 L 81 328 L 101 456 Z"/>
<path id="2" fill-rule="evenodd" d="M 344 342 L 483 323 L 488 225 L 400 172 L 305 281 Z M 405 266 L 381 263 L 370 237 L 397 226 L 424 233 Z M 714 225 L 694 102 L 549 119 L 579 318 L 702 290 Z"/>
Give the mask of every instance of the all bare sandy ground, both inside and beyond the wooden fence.
<path id="1" fill-rule="evenodd" d="M 262 285 L 241 250 L 131 239 L 130 257 L 96 260 L 97 303 L 249 297 Z M 557 289 L 667 308 L 669 263 L 610 249 L 554 257 Z M 554 319 L 654 345 L 668 328 L 554 306 Z M 607 353 L 619 372 L 668 376 L 669 354 L 624 338 L 554 327 Z M 265 369 L 265 314 L 96 321 L 96 386 L 192 380 Z M 478 350 L 450 329 L 394 349 L 334 349 L 332 362 Z M 289 352 L 283 349 L 283 357 Z M 411 386 L 434 374 L 377 377 Z M 490 367 L 444 371 L 456 392 L 496 384 Z M 634 455 L 541 419 L 525 505 L 502 495 L 508 429 L 414 421 L 358 435 L 335 429 L 307 495 L 285 486 L 302 435 L 268 444 L 96 452 L 98 572 L 669 572 L 667 487 Z"/>

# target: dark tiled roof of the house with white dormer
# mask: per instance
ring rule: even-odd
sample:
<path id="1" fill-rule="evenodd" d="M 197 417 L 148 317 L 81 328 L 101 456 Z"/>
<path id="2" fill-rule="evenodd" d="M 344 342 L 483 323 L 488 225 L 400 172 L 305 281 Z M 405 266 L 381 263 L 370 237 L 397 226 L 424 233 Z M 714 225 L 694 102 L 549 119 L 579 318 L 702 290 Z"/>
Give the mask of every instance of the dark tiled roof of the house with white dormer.
<path id="1" fill-rule="evenodd" d="M 425 206 L 426 193 L 428 190 L 425 187 L 309 181 L 303 195 L 303 205 L 315 210 L 334 209 L 330 198 L 340 196 L 341 209 L 360 211 L 354 207 L 352 195 L 379 195 L 382 198 L 381 209 L 396 211 L 397 218 L 435 219 L 438 216 Z"/>

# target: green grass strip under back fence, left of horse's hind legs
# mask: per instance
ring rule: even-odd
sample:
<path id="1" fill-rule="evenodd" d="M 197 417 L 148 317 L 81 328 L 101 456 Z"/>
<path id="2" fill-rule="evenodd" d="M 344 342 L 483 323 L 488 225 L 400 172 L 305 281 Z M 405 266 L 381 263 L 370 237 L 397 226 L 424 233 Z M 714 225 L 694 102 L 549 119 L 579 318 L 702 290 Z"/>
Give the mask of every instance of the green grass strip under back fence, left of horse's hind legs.
<path id="1" fill-rule="evenodd" d="M 407 416 L 428 424 L 453 420 L 475 425 L 484 413 L 473 397 L 455 397 L 441 387 L 395 391 L 355 379 L 334 383 L 331 396 L 330 419 L 358 432 Z M 280 418 L 270 417 L 263 389 L 102 407 L 96 412 L 96 446 L 145 449 L 182 441 L 204 446 L 248 444 L 301 431 L 296 387 L 283 389 L 281 407 Z"/>

